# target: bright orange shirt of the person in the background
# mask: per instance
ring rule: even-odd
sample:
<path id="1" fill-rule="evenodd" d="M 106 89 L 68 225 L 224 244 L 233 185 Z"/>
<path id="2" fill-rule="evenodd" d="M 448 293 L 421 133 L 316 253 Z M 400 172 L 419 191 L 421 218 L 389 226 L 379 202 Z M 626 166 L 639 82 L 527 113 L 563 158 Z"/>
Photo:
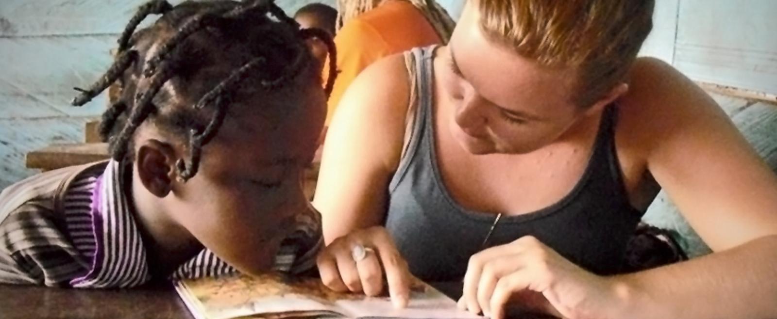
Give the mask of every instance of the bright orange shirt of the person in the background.
<path id="1" fill-rule="evenodd" d="M 454 27 L 434 0 L 338 0 L 338 8 L 340 29 L 334 41 L 339 73 L 327 102 L 327 125 L 340 97 L 364 68 L 413 47 L 447 43 Z"/>

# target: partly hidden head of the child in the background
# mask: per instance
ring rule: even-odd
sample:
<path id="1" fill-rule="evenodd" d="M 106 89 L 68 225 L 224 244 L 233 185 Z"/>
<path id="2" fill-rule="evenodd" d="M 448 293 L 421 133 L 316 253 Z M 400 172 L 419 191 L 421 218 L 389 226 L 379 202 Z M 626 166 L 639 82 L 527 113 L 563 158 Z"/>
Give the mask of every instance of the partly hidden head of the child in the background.
<path id="1" fill-rule="evenodd" d="M 322 29 L 329 33 L 329 36 L 335 34 L 335 23 L 337 20 L 337 10 L 323 3 L 311 3 L 305 5 L 294 14 L 294 20 L 299 23 L 302 29 Z M 316 60 L 326 61 L 326 55 L 329 51 L 326 43 L 321 40 L 313 39 L 310 42 L 313 56 Z"/>

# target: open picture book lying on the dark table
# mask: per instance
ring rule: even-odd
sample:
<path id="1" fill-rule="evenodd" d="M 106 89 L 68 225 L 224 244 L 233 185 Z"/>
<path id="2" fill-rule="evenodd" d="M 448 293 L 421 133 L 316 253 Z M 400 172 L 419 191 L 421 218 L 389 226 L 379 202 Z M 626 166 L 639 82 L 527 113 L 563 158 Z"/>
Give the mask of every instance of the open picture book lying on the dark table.
<path id="1" fill-rule="evenodd" d="M 276 274 L 184 279 L 175 283 L 197 319 L 234 317 L 395 317 L 479 318 L 458 310 L 455 301 L 425 283 L 411 290 L 409 304 L 395 309 L 388 296 L 335 293 L 320 279 L 291 279 Z"/>

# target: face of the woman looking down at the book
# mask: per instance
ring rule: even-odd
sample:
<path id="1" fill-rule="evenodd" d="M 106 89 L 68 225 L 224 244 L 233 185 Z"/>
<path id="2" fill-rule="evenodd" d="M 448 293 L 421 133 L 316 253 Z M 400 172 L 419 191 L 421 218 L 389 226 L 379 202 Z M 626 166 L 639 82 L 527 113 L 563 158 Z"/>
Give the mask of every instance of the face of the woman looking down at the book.
<path id="1" fill-rule="evenodd" d="M 575 72 L 548 68 L 494 43 L 468 2 L 438 71 L 454 106 L 450 130 L 472 154 L 535 151 L 556 140 L 580 116 L 572 101 Z"/>

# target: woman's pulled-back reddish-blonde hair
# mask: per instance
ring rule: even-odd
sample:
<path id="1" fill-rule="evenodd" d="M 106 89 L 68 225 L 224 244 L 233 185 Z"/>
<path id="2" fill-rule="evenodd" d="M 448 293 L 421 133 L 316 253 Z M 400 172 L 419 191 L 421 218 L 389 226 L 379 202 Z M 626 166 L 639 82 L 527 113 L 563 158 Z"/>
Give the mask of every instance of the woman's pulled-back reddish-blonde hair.
<path id="1" fill-rule="evenodd" d="M 471 0 L 489 40 L 543 65 L 578 72 L 575 103 L 620 81 L 653 27 L 654 0 Z"/>

